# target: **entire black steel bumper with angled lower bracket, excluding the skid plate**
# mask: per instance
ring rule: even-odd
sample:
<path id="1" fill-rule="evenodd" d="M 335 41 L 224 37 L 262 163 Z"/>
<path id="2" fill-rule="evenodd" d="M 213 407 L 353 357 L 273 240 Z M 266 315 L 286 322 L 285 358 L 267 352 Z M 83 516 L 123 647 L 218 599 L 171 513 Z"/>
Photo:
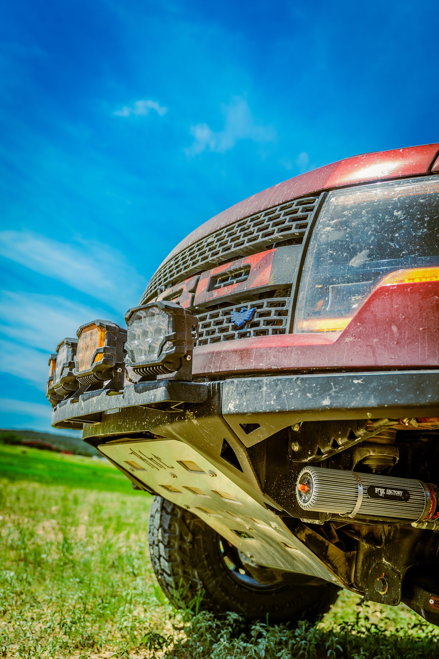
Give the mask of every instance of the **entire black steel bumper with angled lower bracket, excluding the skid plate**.
<path id="1" fill-rule="evenodd" d="M 288 435 L 284 438 L 279 430 L 302 421 L 407 416 L 439 416 L 439 370 L 233 378 L 209 383 L 160 380 L 126 386 L 119 395 L 101 390 L 83 394 L 74 403 L 68 400 L 54 409 L 52 424 L 56 428 L 83 427 L 84 440 L 96 447 L 158 438 L 178 440 L 253 499 L 301 517 L 291 493 L 305 463 L 288 459 Z M 266 438 L 271 438 L 268 443 L 263 442 Z M 265 461 L 268 451 L 271 459 Z M 126 465 L 116 466 L 145 488 Z"/>

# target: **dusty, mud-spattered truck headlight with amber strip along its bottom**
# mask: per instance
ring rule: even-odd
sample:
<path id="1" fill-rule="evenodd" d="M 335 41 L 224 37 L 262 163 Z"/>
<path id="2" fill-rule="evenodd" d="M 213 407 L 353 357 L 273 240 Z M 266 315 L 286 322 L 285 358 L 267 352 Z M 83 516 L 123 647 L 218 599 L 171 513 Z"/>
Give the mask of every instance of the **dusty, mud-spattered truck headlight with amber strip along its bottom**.
<path id="1" fill-rule="evenodd" d="M 376 287 L 433 281 L 438 236 L 437 177 L 330 192 L 309 244 L 294 331 L 342 331 Z"/>

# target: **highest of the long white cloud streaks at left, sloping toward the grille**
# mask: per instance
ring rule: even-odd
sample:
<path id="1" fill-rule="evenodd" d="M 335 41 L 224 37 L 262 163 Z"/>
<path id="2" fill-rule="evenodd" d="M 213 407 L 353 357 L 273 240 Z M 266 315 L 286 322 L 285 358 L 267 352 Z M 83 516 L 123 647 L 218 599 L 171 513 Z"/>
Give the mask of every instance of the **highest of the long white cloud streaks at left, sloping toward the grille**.
<path id="1" fill-rule="evenodd" d="M 145 280 L 107 244 L 61 243 L 29 231 L 0 231 L 0 254 L 53 277 L 124 313 L 138 302 Z"/>

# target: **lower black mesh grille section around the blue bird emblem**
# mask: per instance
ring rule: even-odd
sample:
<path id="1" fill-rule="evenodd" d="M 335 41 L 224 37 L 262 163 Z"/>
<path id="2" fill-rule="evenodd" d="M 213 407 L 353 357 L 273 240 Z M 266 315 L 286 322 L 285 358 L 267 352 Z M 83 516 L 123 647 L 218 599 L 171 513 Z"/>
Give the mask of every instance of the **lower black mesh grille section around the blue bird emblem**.
<path id="1" fill-rule="evenodd" d="M 247 301 L 240 301 L 238 304 L 222 302 L 217 305 L 221 308 L 205 309 L 204 313 L 196 309 L 195 314 L 199 320 L 197 345 L 288 332 L 291 312 L 290 290 L 284 288 L 278 291 L 267 291 L 265 295 L 276 295 L 276 297 L 253 301 L 248 301 L 247 297 Z M 244 327 L 237 328 L 232 323 L 230 314 L 232 311 L 240 312 L 242 308 L 246 310 L 255 308 L 255 312 Z"/>

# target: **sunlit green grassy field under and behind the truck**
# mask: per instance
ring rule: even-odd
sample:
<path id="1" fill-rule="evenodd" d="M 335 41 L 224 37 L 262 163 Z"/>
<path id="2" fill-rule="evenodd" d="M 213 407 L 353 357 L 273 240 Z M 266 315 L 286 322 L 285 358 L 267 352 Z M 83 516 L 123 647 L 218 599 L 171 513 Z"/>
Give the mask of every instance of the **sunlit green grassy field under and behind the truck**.
<path id="1" fill-rule="evenodd" d="M 315 627 L 176 611 L 147 552 L 151 497 L 89 458 L 0 447 L 0 654 L 7 658 L 435 659 L 405 606 L 344 592 Z M 53 484 L 48 484 L 52 480 Z"/>

